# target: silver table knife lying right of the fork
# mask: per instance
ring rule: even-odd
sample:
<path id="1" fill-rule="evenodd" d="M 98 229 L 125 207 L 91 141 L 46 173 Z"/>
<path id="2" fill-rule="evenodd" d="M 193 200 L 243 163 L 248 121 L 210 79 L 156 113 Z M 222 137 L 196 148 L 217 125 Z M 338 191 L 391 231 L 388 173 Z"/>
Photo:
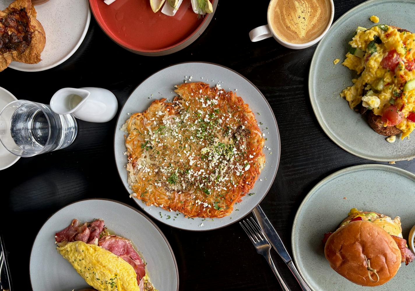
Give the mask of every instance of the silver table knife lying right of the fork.
<path id="1" fill-rule="evenodd" d="M 261 209 L 261 206 L 256 206 L 256 208 L 254 208 L 252 212 L 254 212 L 256 220 L 258 221 L 259 226 L 264 231 L 266 238 L 268 238 L 269 243 L 272 245 L 274 250 L 278 252 L 278 255 L 280 255 L 284 262 L 288 265 L 288 268 L 290 268 L 295 279 L 297 279 L 298 284 L 300 284 L 301 289 L 303 289 L 304 291 L 311 291 L 310 287 L 307 286 L 307 284 L 301 277 L 300 273 L 298 273 L 298 270 L 293 263 L 293 259 L 291 259 L 280 236 L 276 232 L 275 228 L 272 226 L 271 222 L 268 220 L 268 217 L 266 217 L 264 211 Z"/>

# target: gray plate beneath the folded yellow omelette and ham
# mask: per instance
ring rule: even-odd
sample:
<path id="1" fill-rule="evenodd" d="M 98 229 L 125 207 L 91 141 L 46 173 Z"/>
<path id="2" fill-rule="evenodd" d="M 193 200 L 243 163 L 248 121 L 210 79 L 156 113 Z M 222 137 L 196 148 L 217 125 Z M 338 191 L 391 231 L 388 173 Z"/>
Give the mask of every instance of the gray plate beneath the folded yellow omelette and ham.
<path id="1" fill-rule="evenodd" d="M 177 291 L 176 258 L 161 230 L 136 209 L 106 199 L 81 200 L 53 214 L 37 234 L 30 255 L 30 281 L 33 291 L 68 291 L 88 288 L 88 284 L 57 251 L 54 235 L 73 218 L 91 221 L 102 218 L 115 234 L 131 240 L 147 263 L 154 287 Z"/>

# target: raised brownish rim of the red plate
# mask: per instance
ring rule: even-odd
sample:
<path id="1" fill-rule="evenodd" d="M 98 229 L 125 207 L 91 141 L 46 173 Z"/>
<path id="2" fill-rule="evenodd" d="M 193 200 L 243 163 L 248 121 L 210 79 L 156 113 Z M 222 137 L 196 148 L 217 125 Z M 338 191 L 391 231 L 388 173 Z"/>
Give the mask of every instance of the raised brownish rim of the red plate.
<path id="1" fill-rule="evenodd" d="M 104 29 L 104 27 L 101 25 L 101 22 L 98 21 L 98 17 L 96 17 L 97 11 L 95 10 L 95 7 L 92 3 L 93 1 L 96 2 L 97 0 L 88 0 L 88 3 L 89 3 L 89 6 L 90 6 L 90 9 L 92 10 L 92 14 L 94 16 L 95 21 L 98 23 L 98 26 L 104 32 L 104 34 L 106 36 L 108 36 L 112 41 L 114 41 L 117 45 L 121 46 L 123 49 L 126 49 L 127 51 L 130 51 L 132 53 L 137 53 L 137 54 L 142 55 L 142 56 L 166 56 L 166 55 L 169 55 L 171 53 L 176 53 L 177 51 L 181 51 L 182 49 L 184 49 L 187 46 L 189 46 L 190 44 L 192 44 L 196 39 L 199 38 L 200 35 L 203 34 L 203 32 L 205 31 L 207 26 L 212 21 L 213 15 L 216 12 L 217 4 L 219 2 L 219 0 L 214 0 L 213 1 L 213 4 L 212 4 L 213 12 L 208 13 L 207 17 L 205 17 L 205 19 L 203 19 L 203 21 L 199 24 L 199 26 L 190 35 L 188 35 L 185 39 L 183 39 L 182 41 L 180 41 L 176 44 L 173 44 L 172 46 L 168 46 L 164 49 L 137 50 L 137 49 L 133 49 L 132 47 L 125 46 L 124 44 L 121 44 L 120 42 L 118 42 L 117 40 L 113 39 L 110 36 L 109 31 Z M 97 10 L 98 10 L 98 8 L 97 8 Z"/>

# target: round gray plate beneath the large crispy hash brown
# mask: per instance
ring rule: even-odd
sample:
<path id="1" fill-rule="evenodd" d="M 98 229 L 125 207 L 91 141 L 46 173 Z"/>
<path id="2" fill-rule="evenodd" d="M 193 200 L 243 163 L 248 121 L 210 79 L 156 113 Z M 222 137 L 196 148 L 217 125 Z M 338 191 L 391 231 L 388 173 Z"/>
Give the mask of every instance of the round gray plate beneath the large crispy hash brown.
<path id="1" fill-rule="evenodd" d="M 262 123 L 259 126 L 267 138 L 267 141 L 265 141 L 267 148 L 264 148 L 266 165 L 259 179 L 255 182 L 254 188 L 251 190 L 255 195 L 243 197 L 242 203 L 235 204 L 234 211 L 229 216 L 215 218 L 213 220 L 203 220 L 202 218 L 188 219 L 183 215 L 176 216 L 175 212 L 166 211 L 159 207 L 146 206 L 138 199 L 134 199 L 134 201 L 146 213 L 153 216 L 154 219 L 166 223 L 169 226 L 187 230 L 211 230 L 238 221 L 261 202 L 275 179 L 280 159 L 280 137 L 277 122 L 271 107 L 258 88 L 242 75 L 220 65 L 202 62 L 172 65 L 151 75 L 131 93 L 124 107 L 121 109 L 120 116 L 118 116 L 114 137 L 115 162 L 121 180 L 127 191 L 131 194 L 132 191 L 129 189 L 127 182 L 127 170 L 125 169 L 127 156 L 123 154 L 126 151 L 124 143 L 125 132 L 121 131 L 120 128 L 129 118 L 128 114 L 143 112 L 155 99 L 167 98 L 171 100 L 176 95 L 173 86 L 179 85 L 185 80 L 188 82 L 190 76 L 192 76 L 191 82 L 202 81 L 209 83 L 210 86 L 220 84 L 227 91 L 237 90 L 237 95 L 241 96 L 244 102 L 247 102 L 251 110 L 255 112 L 256 121 Z"/>

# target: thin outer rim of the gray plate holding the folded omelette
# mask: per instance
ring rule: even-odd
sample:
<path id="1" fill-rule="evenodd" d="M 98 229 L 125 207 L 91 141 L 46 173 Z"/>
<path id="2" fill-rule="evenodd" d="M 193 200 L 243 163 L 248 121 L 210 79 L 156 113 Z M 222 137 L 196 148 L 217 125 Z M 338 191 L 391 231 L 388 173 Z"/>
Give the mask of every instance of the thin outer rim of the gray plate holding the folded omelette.
<path id="1" fill-rule="evenodd" d="M 30 250 L 30 257 L 29 257 L 29 280 L 30 280 L 30 287 L 32 288 L 32 290 L 33 291 L 35 291 L 34 289 L 33 289 L 33 285 L 32 285 L 32 276 L 31 276 L 31 274 L 30 274 L 30 264 L 31 264 L 31 262 L 32 262 L 32 253 L 33 253 L 33 247 L 34 247 L 34 243 L 36 242 L 36 240 L 37 240 L 37 237 L 39 236 L 39 233 L 40 233 L 40 231 L 42 230 L 42 228 L 44 227 L 44 225 L 46 224 L 46 222 L 48 222 L 49 221 L 49 219 L 51 219 L 51 217 L 52 216 L 54 216 L 56 213 L 58 213 L 59 211 L 61 211 L 62 209 L 64 209 L 64 208 L 66 208 L 67 206 L 70 206 L 70 205 L 72 205 L 72 204 L 75 204 L 75 203 L 78 203 L 78 202 L 82 202 L 82 201 L 88 201 L 88 200 L 105 200 L 105 201 L 111 201 L 111 202 L 115 202 L 115 203 L 118 203 L 118 204 L 122 204 L 122 205 L 124 205 L 124 206 L 127 206 L 127 207 L 129 207 L 129 208 L 131 208 L 131 209 L 133 209 L 133 210 L 135 210 L 135 211 L 137 211 L 137 213 L 139 213 L 139 214 L 141 214 L 144 218 L 146 218 L 149 222 L 151 222 L 151 224 L 153 224 L 153 226 L 156 228 L 156 230 L 161 234 L 161 236 L 164 238 L 164 241 L 166 242 L 166 244 L 167 244 L 167 246 L 168 246 L 168 249 L 170 250 L 170 253 L 171 253 L 171 256 L 173 257 L 173 262 L 174 262 L 174 267 L 175 267 L 175 269 L 176 269 L 176 277 L 177 277 L 177 289 L 176 289 L 176 291 L 179 291 L 179 272 L 178 272 L 178 265 L 177 265 L 177 261 L 176 261 L 176 257 L 175 257 L 175 255 L 174 255 L 174 252 L 173 252 L 173 249 L 171 248 L 171 245 L 170 245 L 170 243 L 168 242 L 168 240 L 167 240 L 167 238 L 166 238 L 166 236 L 164 235 L 164 233 L 161 231 L 161 229 L 156 225 L 156 223 L 154 223 L 154 221 L 152 221 L 148 216 L 146 216 L 144 213 L 142 213 L 141 211 L 139 211 L 138 209 L 136 209 L 135 207 L 132 207 L 132 206 L 130 206 L 130 205 L 128 205 L 128 204 L 125 204 L 124 202 L 121 202 L 121 201 L 117 201 L 117 200 L 114 200 L 114 199 L 107 199 L 107 198 L 87 198 L 87 199 L 82 199 L 82 200 L 78 200 L 78 201 L 74 201 L 74 202 L 71 202 L 71 203 L 69 203 L 69 204 L 67 204 L 67 205 L 65 205 L 65 206 L 63 206 L 63 207 L 61 207 L 60 209 L 58 209 L 57 211 L 55 211 L 54 213 L 52 213 L 47 219 L 46 219 L 46 221 L 42 224 L 42 226 L 39 228 L 39 230 L 38 230 L 38 232 L 37 232 L 37 234 L 36 234 L 36 237 L 34 238 L 34 240 L 33 240 L 33 244 L 32 244 L 32 248 L 31 248 L 31 250 Z"/>

